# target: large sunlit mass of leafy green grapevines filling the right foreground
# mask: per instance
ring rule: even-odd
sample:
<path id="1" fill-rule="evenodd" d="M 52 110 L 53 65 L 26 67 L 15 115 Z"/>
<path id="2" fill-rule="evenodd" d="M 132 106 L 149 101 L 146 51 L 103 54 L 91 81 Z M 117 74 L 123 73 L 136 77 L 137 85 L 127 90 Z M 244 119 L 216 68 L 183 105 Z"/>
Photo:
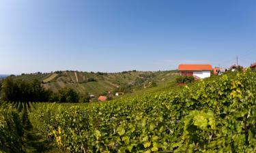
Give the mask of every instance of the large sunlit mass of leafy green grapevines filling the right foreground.
<path id="1" fill-rule="evenodd" d="M 256 152 L 256 73 L 107 103 L 36 103 L 33 126 L 67 152 Z"/>

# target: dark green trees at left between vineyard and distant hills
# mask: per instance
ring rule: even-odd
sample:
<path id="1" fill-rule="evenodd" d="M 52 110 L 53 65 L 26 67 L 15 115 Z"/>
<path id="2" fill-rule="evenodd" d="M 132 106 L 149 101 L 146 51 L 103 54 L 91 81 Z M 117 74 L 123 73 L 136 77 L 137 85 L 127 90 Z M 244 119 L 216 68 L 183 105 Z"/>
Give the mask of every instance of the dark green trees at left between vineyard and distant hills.
<path id="1" fill-rule="evenodd" d="M 0 82 L 1 99 L 3 101 L 20 102 L 57 102 L 57 103 L 85 103 L 89 102 L 87 95 L 79 95 L 72 88 L 61 88 L 57 92 L 45 89 L 39 80 L 25 82 L 14 80 L 12 77 L 5 78 Z"/>

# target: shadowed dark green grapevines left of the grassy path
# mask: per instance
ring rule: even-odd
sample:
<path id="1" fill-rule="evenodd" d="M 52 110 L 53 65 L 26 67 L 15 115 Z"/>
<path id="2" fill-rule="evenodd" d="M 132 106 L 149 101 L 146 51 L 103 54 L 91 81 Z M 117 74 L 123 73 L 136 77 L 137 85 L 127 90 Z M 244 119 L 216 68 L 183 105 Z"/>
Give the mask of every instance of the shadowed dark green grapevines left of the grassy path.
<path id="1" fill-rule="evenodd" d="M 0 152 L 26 152 L 24 144 L 25 115 L 31 111 L 32 103 L 0 103 Z"/>

